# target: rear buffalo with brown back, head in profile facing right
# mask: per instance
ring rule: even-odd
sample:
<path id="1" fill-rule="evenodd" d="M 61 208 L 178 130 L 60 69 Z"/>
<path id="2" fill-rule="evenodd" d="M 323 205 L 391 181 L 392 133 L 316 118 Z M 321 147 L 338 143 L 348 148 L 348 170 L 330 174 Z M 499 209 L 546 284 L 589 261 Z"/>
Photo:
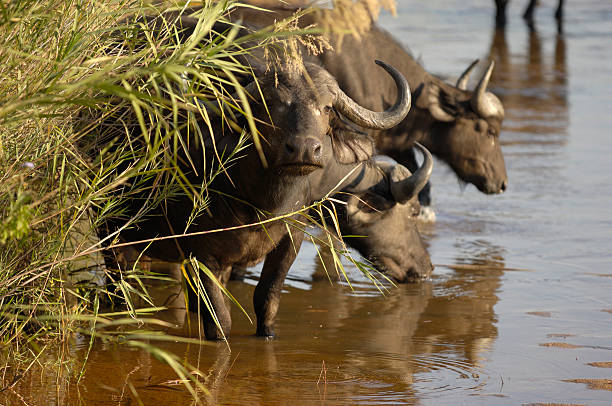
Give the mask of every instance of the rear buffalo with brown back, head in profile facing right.
<path id="1" fill-rule="evenodd" d="M 295 10 L 294 10 L 295 11 Z M 233 18 L 265 26 L 286 18 L 285 8 L 262 12 L 239 9 Z M 301 17 L 300 25 L 317 23 L 317 17 Z M 338 81 L 351 98 L 369 109 L 381 110 L 395 98 L 393 82 L 369 67 L 367 61 L 391 61 L 410 84 L 414 106 L 398 126 L 373 131 L 378 152 L 388 155 L 409 169 L 417 167 L 413 145 L 422 143 L 429 151 L 450 165 L 459 179 L 474 184 L 487 194 L 501 193 L 507 187 L 504 158 L 499 143 L 504 108 L 500 100 L 486 90 L 493 71 L 491 62 L 474 91 L 466 89 L 475 63 L 461 75 L 456 86 L 429 74 L 388 32 L 373 24 L 359 38 L 331 35 L 332 51 L 312 58 Z M 420 196 L 430 204 L 429 188 Z"/>

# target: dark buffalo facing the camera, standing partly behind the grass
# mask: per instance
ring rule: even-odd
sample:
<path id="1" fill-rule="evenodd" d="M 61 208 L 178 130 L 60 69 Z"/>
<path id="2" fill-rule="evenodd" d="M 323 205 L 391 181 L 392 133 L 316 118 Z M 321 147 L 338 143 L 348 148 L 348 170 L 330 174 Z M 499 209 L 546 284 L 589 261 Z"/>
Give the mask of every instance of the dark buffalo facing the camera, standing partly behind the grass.
<path id="1" fill-rule="evenodd" d="M 258 71 L 259 64 L 253 62 L 251 66 L 255 68 L 258 86 L 248 84 L 246 89 L 259 88 L 261 93 L 253 91 L 251 94 L 252 113 L 262 123 L 273 123 L 259 126 L 266 141 L 262 146 L 268 165 L 263 164 L 254 146 L 244 147 L 241 151 L 244 156 L 208 185 L 208 190 L 215 192 L 209 193 L 207 211 L 195 219 L 192 218 L 191 197 L 179 194 L 152 209 L 137 228 L 121 229 L 124 220 L 111 218 L 99 230 L 103 239 L 121 230 L 123 241 L 133 243 L 138 251 L 146 251 L 154 258 L 181 261 L 194 256 L 202 262 L 216 279 L 202 278 L 208 300 L 202 307 L 210 305 L 221 326 L 219 329 L 213 316 L 203 311 L 208 339 L 226 337 L 231 327 L 230 312 L 219 282 L 227 280 L 233 266 L 249 266 L 264 256 L 253 298 L 257 335 L 274 334 L 274 317 L 283 281 L 303 239 L 302 230 L 292 222 L 298 215 L 290 213 L 333 190 L 361 193 L 372 187 L 384 189 L 389 185 L 383 172 L 368 160 L 372 148 L 367 137 L 334 136 L 331 124 L 335 112 L 359 126 L 386 129 L 401 122 L 410 109 L 408 83 L 399 72 L 382 62 L 377 63 L 393 77 L 397 99 L 393 106 L 380 113 L 351 100 L 334 78 L 318 65 L 306 63 L 301 71 L 286 69 L 283 65 Z M 201 126 L 202 134 L 207 134 L 205 124 Z M 215 134 L 220 135 L 220 129 Z M 194 137 L 192 134 L 183 136 L 187 140 Z M 189 142 L 189 157 L 179 159 L 179 166 L 190 183 L 205 185 L 205 174 L 218 165 L 214 162 L 215 151 L 233 150 L 240 138 L 238 133 L 227 130 L 224 136 L 208 137 L 204 145 Z M 405 193 L 406 198 L 410 193 L 418 193 L 411 188 L 413 184 L 422 184 L 424 176 L 428 173 L 417 171 L 412 180 L 402 180 L 409 191 Z M 145 188 L 144 193 L 151 188 Z M 139 199 L 132 199 L 126 202 L 124 214 L 131 217 L 141 207 Z M 287 215 L 284 221 L 277 218 L 283 215 Z M 253 225 L 262 221 L 264 224 Z M 210 233 L 211 230 L 223 231 Z M 187 235 L 177 236 L 177 232 L 183 231 Z M 116 268 L 112 253 L 107 252 L 105 260 L 107 267 Z"/>

